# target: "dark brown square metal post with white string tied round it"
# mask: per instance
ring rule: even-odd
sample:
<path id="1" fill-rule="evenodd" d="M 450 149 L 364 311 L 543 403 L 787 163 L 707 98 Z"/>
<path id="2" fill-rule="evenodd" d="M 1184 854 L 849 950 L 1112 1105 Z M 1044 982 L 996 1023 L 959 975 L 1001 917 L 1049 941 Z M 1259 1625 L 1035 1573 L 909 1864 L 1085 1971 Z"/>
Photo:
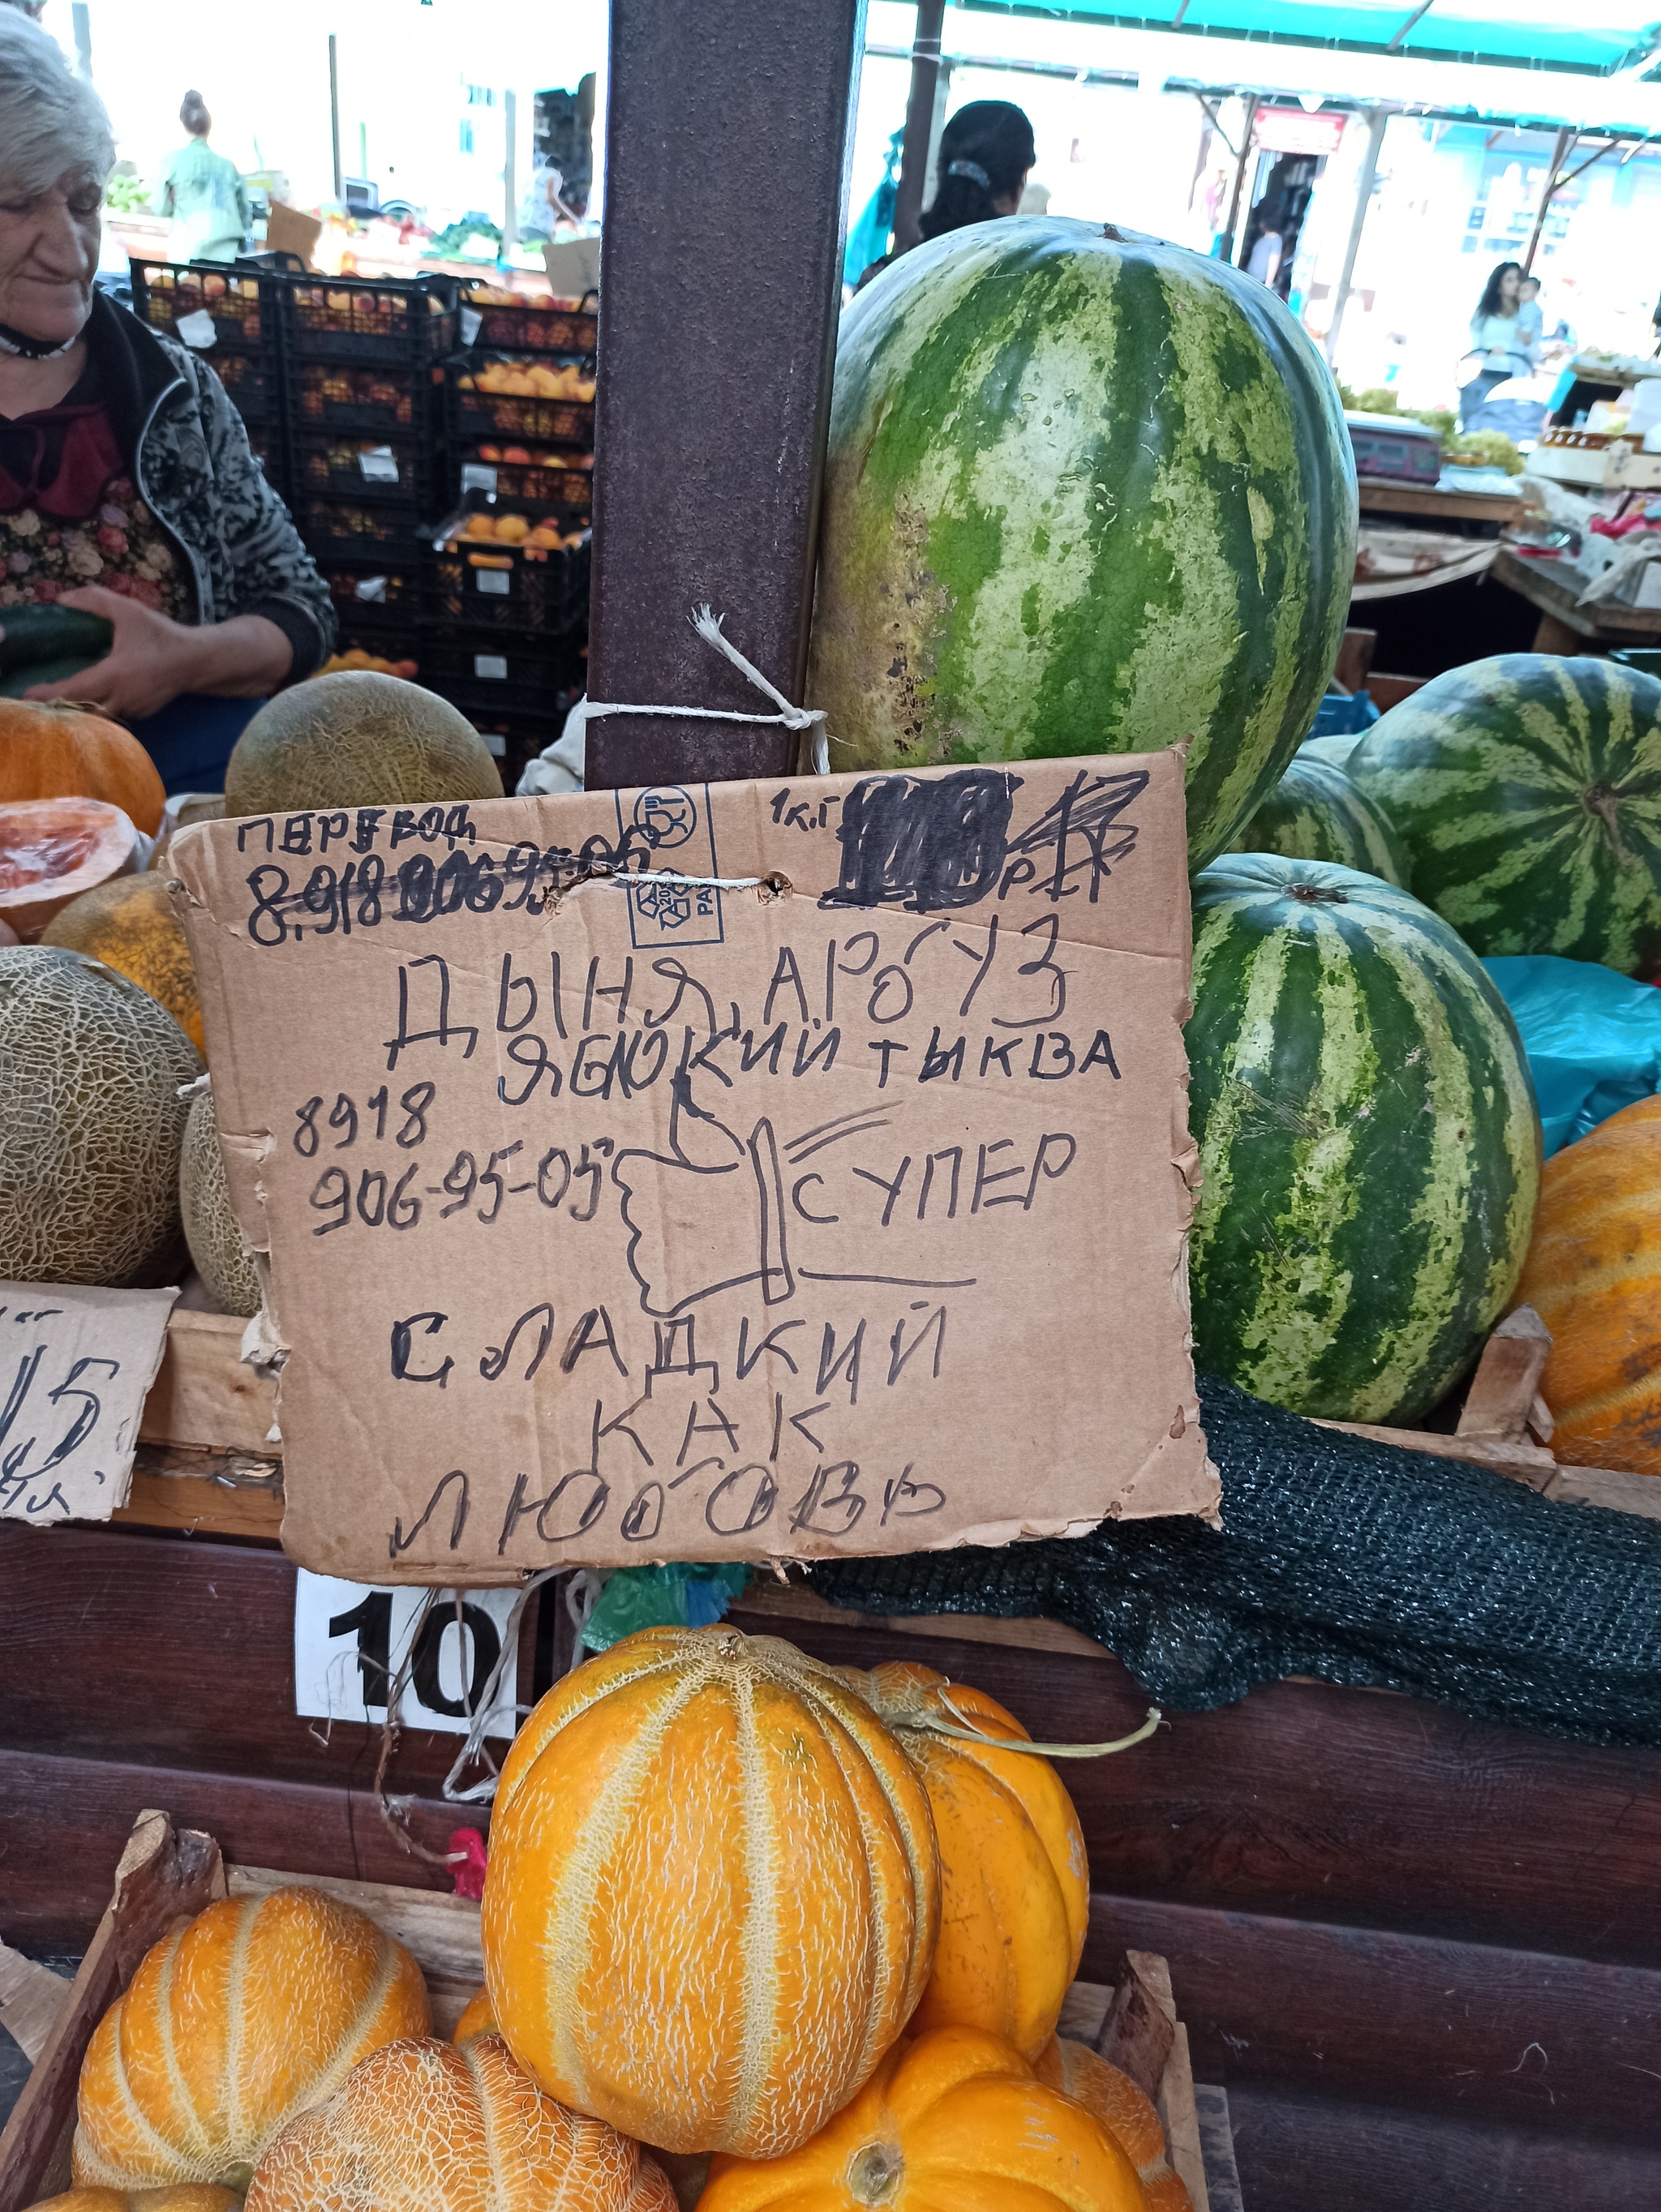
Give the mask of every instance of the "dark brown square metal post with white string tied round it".
<path id="1" fill-rule="evenodd" d="M 803 697 L 863 46 L 865 0 L 613 0 L 591 699 L 772 712 L 703 602 Z M 781 728 L 588 726 L 591 790 L 794 761 Z"/>

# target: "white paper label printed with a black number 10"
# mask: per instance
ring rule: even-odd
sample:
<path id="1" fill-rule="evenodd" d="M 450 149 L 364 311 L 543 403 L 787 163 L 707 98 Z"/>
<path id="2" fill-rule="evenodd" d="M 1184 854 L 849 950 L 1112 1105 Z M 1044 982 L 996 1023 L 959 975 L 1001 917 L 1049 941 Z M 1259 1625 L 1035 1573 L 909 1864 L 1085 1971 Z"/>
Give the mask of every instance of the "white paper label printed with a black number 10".
<path id="1" fill-rule="evenodd" d="M 376 1590 L 301 1568 L 294 1588 L 294 1712 L 318 1721 L 385 1721 L 387 1692 L 409 1659 L 398 1721 L 464 1736 L 469 1714 L 480 1710 L 502 1657 L 515 1595 L 440 1590 L 422 1619 L 425 1590 Z M 500 1725 L 491 1734 L 511 1736 L 520 1725 L 513 1710 L 515 1668 L 509 1668 L 498 1697 Z"/>

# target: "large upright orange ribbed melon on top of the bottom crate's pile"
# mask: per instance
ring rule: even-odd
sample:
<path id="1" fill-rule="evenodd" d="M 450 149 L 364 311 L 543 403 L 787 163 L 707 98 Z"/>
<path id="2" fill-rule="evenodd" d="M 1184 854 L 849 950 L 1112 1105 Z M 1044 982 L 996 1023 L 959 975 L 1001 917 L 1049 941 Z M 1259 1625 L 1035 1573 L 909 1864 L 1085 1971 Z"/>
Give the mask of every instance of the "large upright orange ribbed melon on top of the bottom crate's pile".
<path id="1" fill-rule="evenodd" d="M 805 2143 L 911 2015 L 938 1918 L 911 1761 L 776 1637 L 626 1637 L 502 1765 L 482 1916 L 502 2035 L 646 2143 Z"/>

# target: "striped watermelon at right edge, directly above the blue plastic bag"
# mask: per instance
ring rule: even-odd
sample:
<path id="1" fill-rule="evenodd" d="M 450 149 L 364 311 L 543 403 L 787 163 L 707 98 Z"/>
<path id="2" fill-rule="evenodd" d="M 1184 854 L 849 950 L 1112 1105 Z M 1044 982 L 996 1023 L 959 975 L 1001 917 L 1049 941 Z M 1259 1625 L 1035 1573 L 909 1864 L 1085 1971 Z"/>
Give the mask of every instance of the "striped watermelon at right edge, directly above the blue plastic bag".
<path id="1" fill-rule="evenodd" d="M 1373 723 L 1347 774 L 1396 825 L 1413 889 L 1484 958 L 1661 962 L 1661 684 L 1502 653 Z"/>

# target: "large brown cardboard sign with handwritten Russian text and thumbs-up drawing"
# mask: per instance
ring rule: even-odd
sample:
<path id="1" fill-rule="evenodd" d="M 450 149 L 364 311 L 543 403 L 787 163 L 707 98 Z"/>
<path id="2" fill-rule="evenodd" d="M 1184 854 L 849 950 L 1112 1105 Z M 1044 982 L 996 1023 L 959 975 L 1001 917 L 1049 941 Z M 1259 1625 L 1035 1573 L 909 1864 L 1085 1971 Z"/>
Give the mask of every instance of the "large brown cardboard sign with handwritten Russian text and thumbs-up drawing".
<path id="1" fill-rule="evenodd" d="M 1214 1511 L 1174 752 L 257 816 L 170 867 L 305 1566 Z"/>

